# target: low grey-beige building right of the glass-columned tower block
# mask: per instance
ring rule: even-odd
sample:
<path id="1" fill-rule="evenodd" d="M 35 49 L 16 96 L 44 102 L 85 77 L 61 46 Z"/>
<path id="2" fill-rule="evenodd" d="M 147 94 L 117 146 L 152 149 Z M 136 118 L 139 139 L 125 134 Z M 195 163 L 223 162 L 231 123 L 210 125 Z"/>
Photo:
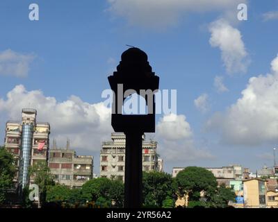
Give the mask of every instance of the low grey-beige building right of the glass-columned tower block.
<path id="1" fill-rule="evenodd" d="M 76 155 L 71 149 L 50 149 L 49 168 L 56 182 L 70 188 L 79 188 L 92 179 L 93 157 Z"/>

